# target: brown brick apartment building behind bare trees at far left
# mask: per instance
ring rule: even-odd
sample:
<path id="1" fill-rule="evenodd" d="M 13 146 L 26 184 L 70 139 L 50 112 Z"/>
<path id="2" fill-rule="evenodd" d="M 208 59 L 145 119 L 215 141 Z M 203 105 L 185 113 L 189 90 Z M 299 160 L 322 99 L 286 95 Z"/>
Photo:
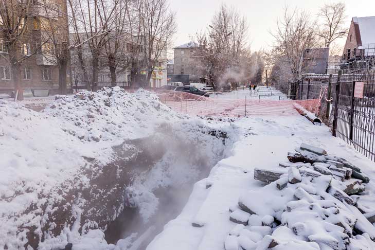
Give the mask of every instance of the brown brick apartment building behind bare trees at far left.
<path id="1" fill-rule="evenodd" d="M 47 5 L 42 3 L 43 1 L 30 2 L 27 16 L 21 19 L 20 26 L 26 27 L 17 42 L 19 51 L 16 55 L 22 59 L 17 75 L 24 90 L 42 89 L 53 94 L 57 93 L 59 88 L 59 69 L 54 56 L 55 44 L 68 44 L 67 6 L 65 0 L 49 0 Z M 1 26 L 4 26 L 3 20 L 0 20 Z M 53 37 L 60 41 L 52 41 Z M 1 35 L 0 93 L 11 93 L 14 90 L 6 43 L 4 35 Z M 69 74 L 67 87 L 70 87 Z"/>

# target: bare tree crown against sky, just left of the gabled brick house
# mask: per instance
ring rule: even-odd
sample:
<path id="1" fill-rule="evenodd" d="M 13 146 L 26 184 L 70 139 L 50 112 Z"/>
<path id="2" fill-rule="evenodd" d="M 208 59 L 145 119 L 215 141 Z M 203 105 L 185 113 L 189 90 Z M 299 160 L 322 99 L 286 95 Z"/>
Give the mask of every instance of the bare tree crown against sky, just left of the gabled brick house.
<path id="1" fill-rule="evenodd" d="M 331 44 L 343 38 L 348 32 L 345 25 L 345 4 L 325 4 L 318 13 L 317 35 L 323 40 L 324 46 L 331 47 Z"/>

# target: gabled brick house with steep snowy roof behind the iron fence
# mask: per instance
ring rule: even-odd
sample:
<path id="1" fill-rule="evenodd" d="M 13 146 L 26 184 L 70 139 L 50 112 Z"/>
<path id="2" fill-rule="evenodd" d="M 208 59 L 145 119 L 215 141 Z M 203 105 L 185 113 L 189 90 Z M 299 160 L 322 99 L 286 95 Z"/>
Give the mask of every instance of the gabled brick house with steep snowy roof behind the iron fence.
<path id="1" fill-rule="evenodd" d="M 375 16 L 353 17 L 342 61 L 352 67 L 373 66 L 375 57 Z"/>

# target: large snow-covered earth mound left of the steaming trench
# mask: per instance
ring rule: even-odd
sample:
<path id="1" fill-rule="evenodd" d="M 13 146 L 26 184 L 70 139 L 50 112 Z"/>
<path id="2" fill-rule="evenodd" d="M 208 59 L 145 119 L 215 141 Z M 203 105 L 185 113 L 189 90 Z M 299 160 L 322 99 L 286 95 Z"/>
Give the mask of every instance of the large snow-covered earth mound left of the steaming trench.
<path id="1" fill-rule="evenodd" d="M 42 113 L 0 101 L 0 235 L 7 236 L 0 247 L 22 248 L 28 232 L 41 238 L 53 229 L 46 214 L 64 210 L 55 205 L 67 194 L 77 198 L 76 188 L 90 187 L 85 173 L 94 159 L 100 172 L 113 161 L 114 146 L 185 119 L 143 90 L 115 87 L 57 98 Z M 73 202 L 65 201 L 65 210 Z"/>

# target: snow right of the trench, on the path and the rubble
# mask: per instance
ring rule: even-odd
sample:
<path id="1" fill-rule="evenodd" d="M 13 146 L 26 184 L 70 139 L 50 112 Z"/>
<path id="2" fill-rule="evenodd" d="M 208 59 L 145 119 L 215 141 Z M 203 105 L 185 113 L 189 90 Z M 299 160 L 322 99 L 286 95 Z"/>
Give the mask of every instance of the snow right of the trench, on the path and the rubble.
<path id="1" fill-rule="evenodd" d="M 290 184 L 288 184 L 288 188 L 281 191 L 283 193 L 282 197 L 275 199 L 274 195 L 271 194 L 279 192 L 277 191 L 276 184 L 263 187 L 260 182 L 253 180 L 253 171 L 255 168 L 278 170 L 278 168 L 281 168 L 278 166 L 279 163 L 287 160 L 285 157 L 287 153 L 299 147 L 302 142 L 327 149 L 330 155 L 344 156 L 354 165 L 361 166 L 362 171 L 372 177 L 374 176 L 372 170 L 373 163 L 359 152 L 356 152 L 354 148 L 345 144 L 344 141 L 332 137 L 329 128 L 326 126 L 314 126 L 302 116 L 243 118 L 235 121 L 235 124 L 239 131 L 243 131 L 242 136 L 234 144 L 232 156 L 221 160 L 211 170 L 208 178 L 213 185 L 210 190 L 208 192 L 204 190 L 204 193 L 203 188 L 202 192 L 195 190 L 191 194 L 183 213 L 167 224 L 163 233 L 151 242 L 147 250 L 174 249 L 176 245 L 179 248 L 190 250 L 222 249 L 222 245 L 229 233 L 233 232 L 233 230 L 236 232 L 238 230 L 238 226 L 229 221 L 230 212 L 228 208 L 236 207 L 236 200 L 238 201 L 239 199 L 242 199 L 258 214 L 250 216 L 248 221 L 249 226 L 245 227 L 247 229 L 244 229 L 246 233 L 241 233 L 240 236 L 252 235 L 253 230 L 256 230 L 258 233 L 262 233 L 261 237 L 264 234 L 272 233 L 272 237 L 280 241 L 280 245 L 273 249 L 331 249 L 328 245 L 335 242 L 336 237 L 339 236 L 331 234 L 326 236 L 325 233 L 322 233 L 323 230 L 326 231 L 329 229 L 335 231 L 343 229 L 328 227 L 328 225 L 319 222 L 317 218 L 324 216 L 322 214 L 324 211 L 324 209 L 322 210 L 323 207 L 334 212 L 333 207 L 336 206 L 337 202 L 319 200 L 320 198 L 315 194 L 325 192 L 325 189 L 328 188 L 329 178 L 332 177 L 322 176 L 315 178 L 314 186 L 304 183 L 303 180 L 301 183 L 295 184 L 296 190 L 299 190 L 298 192 L 301 193 L 297 195 L 302 200 L 288 203 L 287 201 L 293 200 L 295 195 L 294 192 L 288 190 L 291 188 L 289 187 Z M 249 129 L 254 134 L 248 135 L 245 132 Z M 300 166 L 302 165 L 300 164 Z M 312 166 L 310 165 L 310 167 Z M 370 188 L 371 192 L 374 190 L 371 187 L 367 188 Z M 219 192 L 218 189 L 222 191 Z M 198 197 L 200 199 L 197 199 Z M 318 202 L 316 202 L 316 199 L 318 199 Z M 288 213 L 284 212 L 284 216 L 281 218 L 281 214 L 275 211 L 286 204 L 288 204 L 290 209 L 297 210 L 291 213 L 290 216 L 287 216 Z M 368 202 L 368 204 L 371 203 Z M 299 209 L 309 207 L 310 205 L 313 207 L 311 212 L 306 212 L 305 210 L 298 212 Z M 340 205 L 340 209 L 344 209 L 342 215 L 335 215 L 332 217 L 332 221 L 342 218 L 341 216 L 353 217 L 352 213 L 345 206 Z M 194 221 L 197 216 L 201 221 L 204 221 L 204 226 L 199 229 L 195 228 L 195 230 L 190 229 L 189 218 L 191 221 Z M 309 236 L 316 240 L 324 241 L 328 245 L 326 243 L 318 245 L 315 242 L 306 242 L 305 236 L 296 235 L 288 227 L 278 227 L 273 232 L 271 228 L 269 231 L 261 230 L 262 219 L 271 217 L 284 222 L 288 221 L 289 225 L 305 222 L 305 226 L 301 225 L 302 228 L 309 228 L 309 230 L 316 228 L 316 231 L 309 232 Z M 184 223 L 188 232 L 194 230 L 194 233 L 184 233 L 182 235 L 181 231 L 174 230 L 176 228 L 175 225 L 179 225 L 178 227 L 180 228 L 181 223 Z M 311 223 L 316 224 L 313 225 Z M 369 225 L 367 224 L 367 226 Z M 370 233 L 371 231 L 372 229 L 369 230 Z M 308 235 L 308 233 L 305 234 Z M 232 235 L 236 236 L 237 233 Z M 237 243 L 247 245 L 248 249 L 255 249 L 255 246 L 260 245 L 256 244 L 260 238 L 257 240 L 254 237 L 246 238 L 238 237 Z M 353 241 L 359 241 L 358 245 L 363 244 L 367 247 L 363 249 L 370 249 L 368 246 L 372 244 L 364 236 L 356 237 Z M 166 242 L 168 242 L 166 245 L 163 244 Z M 230 242 L 235 244 L 233 237 L 230 238 Z"/>

